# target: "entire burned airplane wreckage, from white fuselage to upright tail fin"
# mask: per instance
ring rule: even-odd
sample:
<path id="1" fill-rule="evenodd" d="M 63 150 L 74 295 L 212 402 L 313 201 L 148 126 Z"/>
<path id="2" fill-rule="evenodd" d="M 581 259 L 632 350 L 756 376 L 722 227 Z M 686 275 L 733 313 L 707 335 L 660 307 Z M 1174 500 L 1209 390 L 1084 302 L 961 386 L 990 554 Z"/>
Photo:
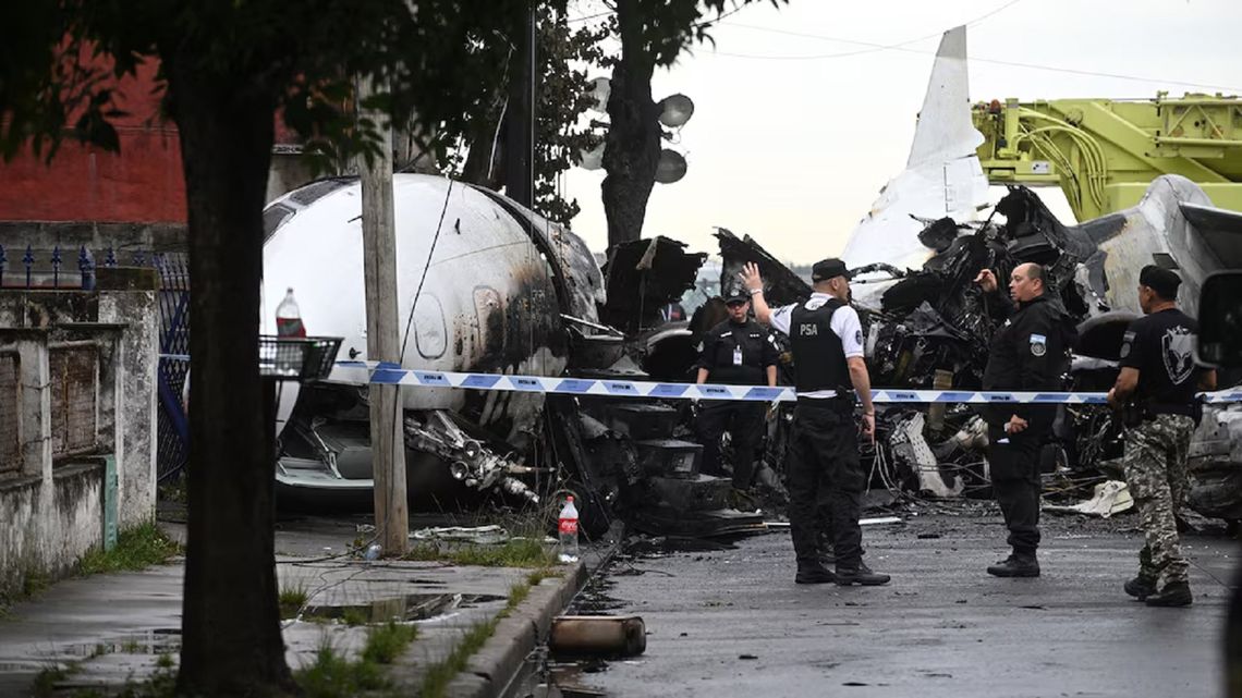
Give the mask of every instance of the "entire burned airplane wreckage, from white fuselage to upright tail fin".
<path id="1" fill-rule="evenodd" d="M 907 168 L 882 190 L 843 258 L 858 273 L 854 303 L 867 325 L 868 365 L 882 386 L 977 389 L 996 327 L 972 284 L 1040 262 L 1056 298 L 1078 320 L 1067 389 L 1105 390 L 1120 338 L 1134 319 L 1139 270 L 1179 268 L 1179 301 L 1195 314 L 1203 277 L 1242 267 L 1242 214 L 1212 206 L 1190 180 L 1155 179 L 1140 204 L 1064 226 L 1027 189 L 1011 188 L 992 217 L 975 222 L 987 180 L 970 120 L 965 27 L 945 32 L 919 111 Z M 666 322 L 669 303 L 696 288 L 705 253 L 657 237 L 621 245 L 600 265 L 559 225 L 493 191 L 447 179 L 394 176 L 401 368 L 431 371 L 688 381 L 696 333 L 723 319 L 719 301 L 689 322 Z M 999 217 L 997 217 L 999 215 Z M 1004 219 L 1004 220 L 1001 220 Z M 265 210 L 265 332 L 293 287 L 310 332 L 342 337 L 342 358 L 366 360 L 360 189 L 356 179 L 313 183 Z M 720 278 L 760 265 L 770 303 L 810 293 L 806 282 L 750 238 L 720 230 Z M 714 265 L 713 267 L 714 268 Z M 606 274 L 606 283 L 605 283 Z M 606 289 L 606 292 L 605 292 Z M 713 315 L 713 312 L 715 313 Z M 786 380 L 789 383 L 789 369 Z M 698 473 L 700 447 L 683 438 L 687 401 L 417 388 L 404 391 L 411 504 L 477 504 L 576 493 L 589 533 L 623 515 L 638 528 L 681 534 L 746 530 L 754 513 L 730 509 L 729 482 Z M 369 502 L 365 385 L 323 381 L 281 395 L 277 482 L 312 502 Z M 787 409 L 771 411 L 765 461 L 784 462 Z M 886 406 L 877 484 L 936 497 L 981 494 L 985 432 L 969 405 Z M 1061 407 L 1045 450 L 1056 487 L 1115 471 L 1110 415 Z M 1242 412 L 1212 409 L 1192 447 L 1206 515 L 1242 518 Z"/>

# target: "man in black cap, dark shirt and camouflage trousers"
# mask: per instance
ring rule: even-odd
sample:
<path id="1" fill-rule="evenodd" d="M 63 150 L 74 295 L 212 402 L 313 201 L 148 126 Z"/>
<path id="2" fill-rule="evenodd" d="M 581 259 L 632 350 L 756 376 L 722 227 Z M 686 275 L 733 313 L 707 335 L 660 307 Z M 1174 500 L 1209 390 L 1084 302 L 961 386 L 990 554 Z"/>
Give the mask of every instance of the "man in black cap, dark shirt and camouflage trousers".
<path id="1" fill-rule="evenodd" d="M 1189 606 L 1192 600 L 1175 515 L 1186 502 L 1186 451 L 1200 407 L 1196 383 L 1216 388 L 1216 371 L 1195 368 L 1199 324 L 1177 309 L 1180 284 L 1169 270 L 1143 267 L 1144 317 L 1123 338 L 1122 371 L 1108 394 L 1114 407 L 1130 407 L 1123 467 L 1146 534 L 1139 576 L 1125 582 L 1125 592 L 1149 606 Z"/>

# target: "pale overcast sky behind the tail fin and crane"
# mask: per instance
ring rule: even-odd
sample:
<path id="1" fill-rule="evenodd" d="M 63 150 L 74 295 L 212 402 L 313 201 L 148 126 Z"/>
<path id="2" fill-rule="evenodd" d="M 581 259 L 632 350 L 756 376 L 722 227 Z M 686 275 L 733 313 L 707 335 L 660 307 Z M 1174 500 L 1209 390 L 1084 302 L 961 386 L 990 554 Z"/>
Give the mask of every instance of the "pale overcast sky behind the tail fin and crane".
<path id="1" fill-rule="evenodd" d="M 571 16 L 606 10 L 571 4 Z M 763 0 L 713 30 L 714 50 L 657 72 L 655 97 L 681 92 L 696 111 L 672 147 L 687 175 L 656 185 L 643 236 L 715 253 L 713 226 L 723 226 L 784 261 L 838 253 L 905 164 L 939 34 L 968 22 L 972 101 L 1242 93 L 1237 0 L 790 0 L 779 10 Z M 607 245 L 602 179 L 578 168 L 565 179 L 582 207 L 573 229 L 592 250 Z M 1059 191 L 1047 199 L 1069 216 Z"/>

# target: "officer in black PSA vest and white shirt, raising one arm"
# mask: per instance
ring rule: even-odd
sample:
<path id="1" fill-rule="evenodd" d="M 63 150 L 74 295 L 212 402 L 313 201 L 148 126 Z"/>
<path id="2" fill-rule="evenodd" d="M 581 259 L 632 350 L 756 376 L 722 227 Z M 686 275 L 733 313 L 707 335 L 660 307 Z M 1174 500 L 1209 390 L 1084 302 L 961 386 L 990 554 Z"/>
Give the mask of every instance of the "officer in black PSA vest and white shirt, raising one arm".
<path id="1" fill-rule="evenodd" d="M 841 260 L 811 267 L 814 293 L 806 303 L 773 310 L 764 301 L 759 267 L 748 263 L 741 279 L 750 291 L 755 317 L 790 338 L 797 405 L 789 457 L 789 523 L 797 556 L 797 584 L 836 581 L 840 585 L 887 584 L 887 574 L 862 561 L 862 492 L 866 476 L 858 458 L 858 427 L 853 420 L 857 392 L 862 431 L 876 438 L 876 407 L 871 376 L 863 360 L 858 313 L 848 306 L 850 273 Z M 852 388 L 852 389 L 851 389 Z M 820 561 L 817 504 L 827 489 L 832 515 L 836 574 Z"/>

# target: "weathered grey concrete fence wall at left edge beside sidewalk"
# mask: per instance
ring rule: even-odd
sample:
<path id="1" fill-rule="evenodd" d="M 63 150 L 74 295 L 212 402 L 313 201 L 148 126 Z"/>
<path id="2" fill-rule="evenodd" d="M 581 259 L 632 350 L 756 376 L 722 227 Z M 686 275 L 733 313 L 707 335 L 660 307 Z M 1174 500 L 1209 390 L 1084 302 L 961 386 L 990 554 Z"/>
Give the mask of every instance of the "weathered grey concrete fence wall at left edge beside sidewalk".
<path id="1" fill-rule="evenodd" d="M 155 514 L 158 307 L 150 270 L 108 270 L 96 292 L 0 292 L 0 350 L 20 356 L 21 467 L 0 477 L 0 597 L 57 576 L 103 540 L 103 457 L 117 469 L 120 528 Z M 94 453 L 53 458 L 48 351 L 98 350 Z"/>

